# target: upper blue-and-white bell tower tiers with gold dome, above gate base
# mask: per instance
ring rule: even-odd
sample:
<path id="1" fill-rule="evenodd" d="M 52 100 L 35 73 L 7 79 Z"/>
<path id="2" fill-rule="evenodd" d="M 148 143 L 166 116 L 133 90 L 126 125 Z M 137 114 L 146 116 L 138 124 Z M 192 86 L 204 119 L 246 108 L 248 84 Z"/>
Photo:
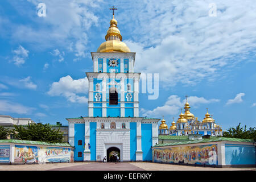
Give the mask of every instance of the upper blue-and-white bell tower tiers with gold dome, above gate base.
<path id="1" fill-rule="evenodd" d="M 139 117 L 139 77 L 134 73 L 135 52 L 122 42 L 113 18 L 105 42 L 91 52 L 93 72 L 89 80 L 89 117 Z"/>

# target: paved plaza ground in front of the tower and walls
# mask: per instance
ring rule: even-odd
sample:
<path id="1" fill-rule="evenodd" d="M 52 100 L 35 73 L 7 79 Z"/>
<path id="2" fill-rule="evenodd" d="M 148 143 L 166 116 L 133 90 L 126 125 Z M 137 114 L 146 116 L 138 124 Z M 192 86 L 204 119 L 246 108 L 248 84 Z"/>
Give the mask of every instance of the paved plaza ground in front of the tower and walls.
<path id="1" fill-rule="evenodd" d="M 0 165 L 0 171 L 256 171 L 256 168 L 212 168 L 159 163 L 53 163 Z"/>

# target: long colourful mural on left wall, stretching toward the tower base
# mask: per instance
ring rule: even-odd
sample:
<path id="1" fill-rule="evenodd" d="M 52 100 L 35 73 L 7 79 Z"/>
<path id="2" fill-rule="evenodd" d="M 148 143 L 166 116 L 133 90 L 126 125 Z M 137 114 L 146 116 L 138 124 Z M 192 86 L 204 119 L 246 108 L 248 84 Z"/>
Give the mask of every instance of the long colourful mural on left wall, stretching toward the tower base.
<path id="1" fill-rule="evenodd" d="M 14 162 L 73 162 L 70 148 L 16 146 Z"/>

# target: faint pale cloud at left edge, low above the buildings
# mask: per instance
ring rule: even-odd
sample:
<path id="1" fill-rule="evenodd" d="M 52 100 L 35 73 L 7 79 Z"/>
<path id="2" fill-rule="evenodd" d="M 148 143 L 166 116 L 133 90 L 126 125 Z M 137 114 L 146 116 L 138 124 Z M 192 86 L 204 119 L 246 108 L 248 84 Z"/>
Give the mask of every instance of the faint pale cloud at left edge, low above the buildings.
<path id="1" fill-rule="evenodd" d="M 0 100 L 0 111 L 3 113 L 30 114 L 33 110 L 35 110 L 33 107 L 23 106 L 16 102 Z"/>

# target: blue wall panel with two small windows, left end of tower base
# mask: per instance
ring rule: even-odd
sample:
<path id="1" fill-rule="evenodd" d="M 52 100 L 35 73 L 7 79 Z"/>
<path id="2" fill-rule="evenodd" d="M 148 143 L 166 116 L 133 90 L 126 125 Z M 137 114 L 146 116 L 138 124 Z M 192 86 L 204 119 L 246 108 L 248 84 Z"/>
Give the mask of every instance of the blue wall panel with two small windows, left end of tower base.
<path id="1" fill-rule="evenodd" d="M 82 145 L 78 145 L 78 141 L 82 140 Z M 84 124 L 75 123 L 75 139 L 74 139 L 75 151 L 74 151 L 74 160 L 82 161 L 84 160 Z M 82 156 L 78 156 L 78 152 L 82 152 Z"/>

